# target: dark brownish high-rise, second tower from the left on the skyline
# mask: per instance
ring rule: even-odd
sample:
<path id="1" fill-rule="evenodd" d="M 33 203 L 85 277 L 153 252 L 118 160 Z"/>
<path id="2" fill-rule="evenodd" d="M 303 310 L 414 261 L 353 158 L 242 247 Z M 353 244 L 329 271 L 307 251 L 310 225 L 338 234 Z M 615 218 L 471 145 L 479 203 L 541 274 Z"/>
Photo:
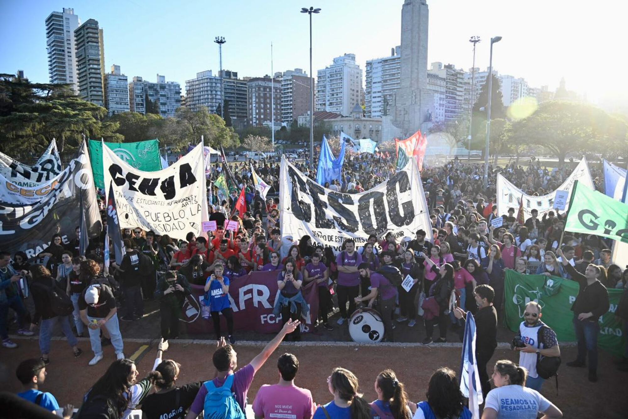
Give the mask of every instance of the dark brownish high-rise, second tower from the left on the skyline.
<path id="1" fill-rule="evenodd" d="M 103 70 L 100 51 L 102 45 L 102 31 L 98 21 L 88 19 L 74 31 L 78 96 L 85 101 L 104 106 L 102 95 Z"/>

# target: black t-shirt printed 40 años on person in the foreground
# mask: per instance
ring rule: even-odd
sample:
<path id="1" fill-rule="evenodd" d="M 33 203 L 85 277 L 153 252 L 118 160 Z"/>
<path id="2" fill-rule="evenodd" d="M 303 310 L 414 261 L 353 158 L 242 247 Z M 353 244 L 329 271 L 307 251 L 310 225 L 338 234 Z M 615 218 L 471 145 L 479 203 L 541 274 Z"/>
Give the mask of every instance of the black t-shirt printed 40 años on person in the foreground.
<path id="1" fill-rule="evenodd" d="M 142 402 L 142 411 L 147 419 L 181 419 L 185 418 L 185 412 L 192 406 L 198 390 L 203 382 L 185 384 L 166 393 L 153 393 L 146 396 Z M 178 393 L 179 403 L 176 403 Z"/>

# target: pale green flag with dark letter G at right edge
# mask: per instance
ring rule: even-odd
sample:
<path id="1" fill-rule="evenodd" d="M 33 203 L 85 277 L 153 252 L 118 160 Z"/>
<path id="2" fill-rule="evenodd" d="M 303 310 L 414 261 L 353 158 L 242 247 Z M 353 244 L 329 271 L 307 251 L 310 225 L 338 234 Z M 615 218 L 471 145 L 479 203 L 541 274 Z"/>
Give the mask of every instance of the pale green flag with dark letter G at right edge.
<path id="1" fill-rule="evenodd" d="M 609 237 L 628 243 L 628 205 L 576 182 L 565 231 Z"/>

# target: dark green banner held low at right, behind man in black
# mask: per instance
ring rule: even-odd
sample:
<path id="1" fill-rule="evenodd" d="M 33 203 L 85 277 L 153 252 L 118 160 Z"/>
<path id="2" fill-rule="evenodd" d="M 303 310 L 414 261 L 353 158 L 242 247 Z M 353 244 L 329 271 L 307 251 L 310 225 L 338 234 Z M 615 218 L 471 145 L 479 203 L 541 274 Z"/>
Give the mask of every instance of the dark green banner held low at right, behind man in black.
<path id="1" fill-rule="evenodd" d="M 573 331 L 571 305 L 576 300 L 580 285 L 576 281 L 564 280 L 555 276 L 522 275 L 506 269 L 506 326 L 516 332 L 523 321 L 526 304 L 536 301 L 543 309 L 543 322 L 554 329 L 558 342 L 576 340 Z M 600 317 L 598 346 L 610 353 L 621 356 L 624 353 L 624 327 L 615 310 L 623 290 L 609 288 L 609 312 Z"/>

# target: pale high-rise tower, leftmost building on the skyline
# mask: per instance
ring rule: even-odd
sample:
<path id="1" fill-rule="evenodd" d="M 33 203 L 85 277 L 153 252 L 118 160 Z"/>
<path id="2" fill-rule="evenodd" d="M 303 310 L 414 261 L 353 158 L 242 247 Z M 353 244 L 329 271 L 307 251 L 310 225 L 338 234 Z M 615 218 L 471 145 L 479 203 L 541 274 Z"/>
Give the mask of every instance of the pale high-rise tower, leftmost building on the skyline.
<path id="1" fill-rule="evenodd" d="M 48 52 L 48 75 L 50 83 L 72 84 L 78 93 L 76 52 L 74 31 L 80 19 L 74 9 L 63 8 L 62 12 L 52 12 L 46 18 L 46 52 Z"/>

